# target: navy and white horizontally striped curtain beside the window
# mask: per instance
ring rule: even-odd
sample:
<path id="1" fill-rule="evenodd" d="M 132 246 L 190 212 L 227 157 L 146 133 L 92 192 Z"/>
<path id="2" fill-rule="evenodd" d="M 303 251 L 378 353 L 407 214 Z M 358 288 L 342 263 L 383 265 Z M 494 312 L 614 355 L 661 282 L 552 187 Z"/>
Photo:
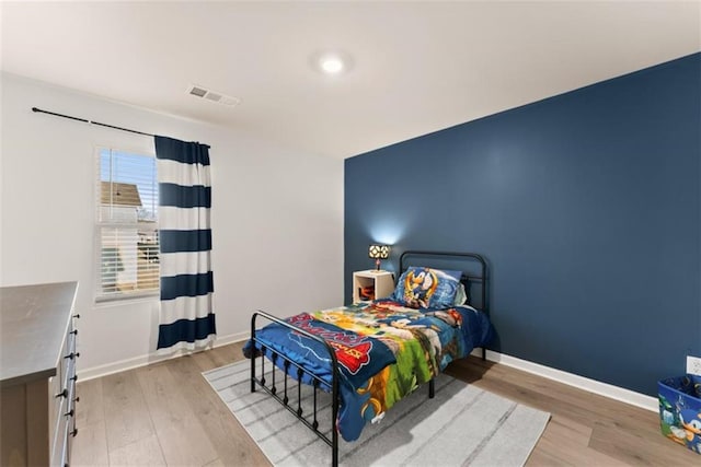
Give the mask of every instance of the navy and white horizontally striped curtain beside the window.
<path id="1" fill-rule="evenodd" d="M 195 349 L 216 337 L 211 310 L 209 147 L 156 137 L 161 310 L 158 349 Z"/>

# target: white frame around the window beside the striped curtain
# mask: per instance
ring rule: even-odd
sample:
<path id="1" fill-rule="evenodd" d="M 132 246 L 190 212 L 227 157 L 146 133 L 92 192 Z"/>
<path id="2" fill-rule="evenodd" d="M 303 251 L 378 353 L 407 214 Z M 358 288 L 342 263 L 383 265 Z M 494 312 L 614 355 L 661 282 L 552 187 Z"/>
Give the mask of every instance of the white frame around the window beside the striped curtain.
<path id="1" fill-rule="evenodd" d="M 93 232 L 94 232 L 94 253 L 93 253 L 93 265 L 95 267 L 95 272 L 93 276 L 93 301 L 95 304 L 100 305 L 110 305 L 125 301 L 152 301 L 153 299 L 160 297 L 160 273 L 158 278 L 158 285 L 153 289 L 145 289 L 145 290 L 134 290 L 134 291 L 119 291 L 119 292 L 107 292 L 105 293 L 102 290 L 103 285 L 103 230 L 104 229 L 119 229 L 119 227 L 130 227 L 133 225 L 137 225 L 137 234 L 138 231 L 143 229 L 143 224 L 139 227 L 139 223 L 137 221 L 136 224 L 131 224 L 128 222 L 118 222 L 118 221 L 101 221 L 101 209 L 103 205 L 101 203 L 102 197 L 102 177 L 101 177 L 101 168 L 102 168 L 102 153 L 103 151 L 111 151 L 122 154 L 142 156 L 142 157 L 151 157 L 156 163 L 156 173 L 154 173 L 154 185 L 156 192 L 158 194 L 158 162 L 156 161 L 156 151 L 153 150 L 143 150 L 143 149 L 129 149 L 120 145 L 107 145 L 101 144 L 96 145 L 94 150 L 94 192 L 93 192 Z M 113 180 L 114 182 L 114 180 Z M 119 182 L 116 182 L 119 183 Z M 158 219 L 157 211 L 157 220 L 153 226 L 153 231 L 158 232 L 160 230 L 160 223 Z M 160 242 L 160 240 L 159 240 Z M 159 244 L 159 257 L 160 257 L 160 244 Z M 138 268 L 138 266 L 137 266 Z M 137 269 L 138 273 L 138 269 Z"/>

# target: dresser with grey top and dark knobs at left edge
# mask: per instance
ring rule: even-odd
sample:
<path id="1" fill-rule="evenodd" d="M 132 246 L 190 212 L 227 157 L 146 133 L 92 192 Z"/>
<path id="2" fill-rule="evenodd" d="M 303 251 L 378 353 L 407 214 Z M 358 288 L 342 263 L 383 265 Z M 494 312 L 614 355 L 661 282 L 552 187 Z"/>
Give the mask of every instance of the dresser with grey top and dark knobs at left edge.
<path id="1" fill-rule="evenodd" d="M 78 282 L 0 288 L 0 466 L 67 466 Z"/>

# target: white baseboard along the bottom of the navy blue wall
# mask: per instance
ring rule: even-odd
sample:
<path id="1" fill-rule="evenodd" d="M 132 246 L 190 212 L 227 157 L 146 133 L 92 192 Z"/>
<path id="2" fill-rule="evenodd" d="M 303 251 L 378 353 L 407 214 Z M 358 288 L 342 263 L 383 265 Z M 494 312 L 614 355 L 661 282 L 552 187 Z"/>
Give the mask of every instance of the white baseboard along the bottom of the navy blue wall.
<path id="1" fill-rule="evenodd" d="M 481 358 L 482 349 L 473 350 L 472 354 Z M 559 383 L 587 390 L 589 393 L 598 394 L 599 396 L 605 396 L 610 399 L 630 404 L 645 410 L 651 410 L 653 412 L 659 410 L 657 398 L 619 386 L 613 386 L 608 383 L 601 383 L 596 380 L 590 380 L 588 377 L 579 376 L 573 373 L 563 372 L 561 370 L 555 370 L 550 366 L 532 363 L 527 360 L 517 359 L 516 357 L 494 352 L 492 350 L 486 351 L 486 360 L 495 363 L 501 363 L 506 366 L 512 366 L 527 373 L 532 373 L 538 376 L 547 377 L 548 380 L 553 380 Z"/>

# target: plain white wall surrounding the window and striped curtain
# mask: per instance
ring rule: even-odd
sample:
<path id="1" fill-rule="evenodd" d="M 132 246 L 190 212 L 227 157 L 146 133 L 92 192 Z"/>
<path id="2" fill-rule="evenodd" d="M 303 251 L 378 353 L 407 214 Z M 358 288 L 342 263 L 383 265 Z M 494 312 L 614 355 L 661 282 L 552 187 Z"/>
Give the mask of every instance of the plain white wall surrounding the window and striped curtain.
<path id="1" fill-rule="evenodd" d="M 255 308 L 287 315 L 343 302 L 343 161 L 1 77 L 0 284 L 80 281 L 83 373 L 154 360 L 158 301 L 95 305 L 93 299 L 95 147 L 153 153 L 153 141 L 35 114 L 33 106 L 211 145 L 214 306 L 221 340 L 245 336 Z"/>

